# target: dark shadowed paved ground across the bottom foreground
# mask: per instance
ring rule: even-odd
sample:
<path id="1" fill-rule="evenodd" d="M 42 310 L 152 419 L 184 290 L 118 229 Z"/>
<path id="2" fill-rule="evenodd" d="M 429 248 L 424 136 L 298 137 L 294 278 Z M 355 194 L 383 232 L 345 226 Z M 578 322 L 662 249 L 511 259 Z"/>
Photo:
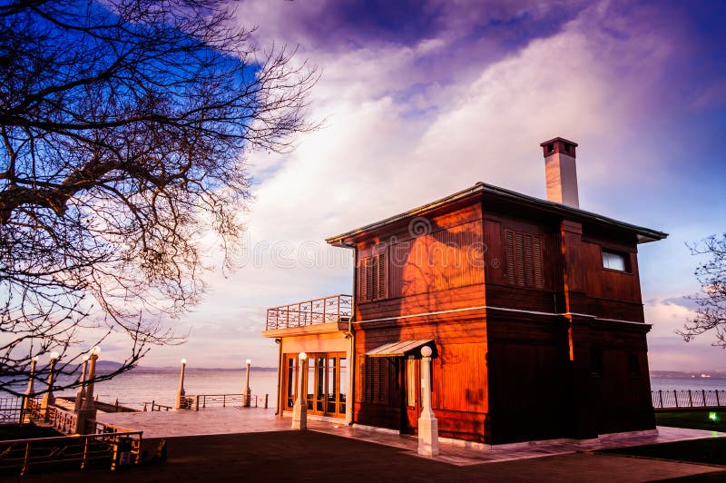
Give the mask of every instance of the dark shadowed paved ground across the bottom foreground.
<path id="1" fill-rule="evenodd" d="M 153 443 L 153 441 L 149 441 Z M 724 468 L 615 455 L 575 453 L 456 466 L 318 431 L 284 431 L 167 439 L 166 464 L 123 471 L 78 470 L 34 475 L 24 482 L 56 481 L 652 481 L 704 478 Z"/>

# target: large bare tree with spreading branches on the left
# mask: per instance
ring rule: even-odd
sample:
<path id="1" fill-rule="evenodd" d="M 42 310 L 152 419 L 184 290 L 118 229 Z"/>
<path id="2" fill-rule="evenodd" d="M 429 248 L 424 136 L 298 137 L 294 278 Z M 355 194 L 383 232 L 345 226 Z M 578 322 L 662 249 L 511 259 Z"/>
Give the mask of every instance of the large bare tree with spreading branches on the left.
<path id="1" fill-rule="evenodd" d="M 211 0 L 0 5 L 0 389 L 112 333 L 130 351 L 101 378 L 132 368 L 180 340 L 165 321 L 199 301 L 201 236 L 233 265 L 242 154 L 314 127 L 317 78 L 234 20 Z"/>

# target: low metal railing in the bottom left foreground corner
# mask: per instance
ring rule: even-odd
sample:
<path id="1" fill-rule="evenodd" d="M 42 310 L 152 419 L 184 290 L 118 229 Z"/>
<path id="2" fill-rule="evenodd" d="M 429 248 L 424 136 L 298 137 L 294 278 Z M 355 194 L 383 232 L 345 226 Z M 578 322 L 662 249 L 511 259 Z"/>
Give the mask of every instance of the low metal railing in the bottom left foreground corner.
<path id="1" fill-rule="evenodd" d="M 0 474 L 24 476 L 32 468 L 90 468 L 136 464 L 143 431 L 0 441 Z"/>

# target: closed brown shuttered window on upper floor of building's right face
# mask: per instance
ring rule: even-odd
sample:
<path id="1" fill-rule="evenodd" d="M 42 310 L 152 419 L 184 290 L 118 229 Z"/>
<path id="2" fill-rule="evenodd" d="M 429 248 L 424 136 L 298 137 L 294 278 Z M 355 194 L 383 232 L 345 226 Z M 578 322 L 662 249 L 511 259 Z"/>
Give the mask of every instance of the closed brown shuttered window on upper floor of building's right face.
<path id="1" fill-rule="evenodd" d="M 506 280 L 529 289 L 544 288 L 542 238 L 525 232 L 505 230 Z"/>

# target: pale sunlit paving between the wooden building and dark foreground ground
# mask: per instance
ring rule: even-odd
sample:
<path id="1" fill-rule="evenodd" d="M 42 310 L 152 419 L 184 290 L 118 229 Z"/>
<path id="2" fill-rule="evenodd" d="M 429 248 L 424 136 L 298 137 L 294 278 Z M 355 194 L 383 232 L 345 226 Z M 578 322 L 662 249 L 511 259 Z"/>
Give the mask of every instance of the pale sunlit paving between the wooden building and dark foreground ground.
<path id="1" fill-rule="evenodd" d="M 144 439 L 220 434 L 289 431 L 289 418 L 276 418 L 274 409 L 207 408 L 200 411 L 155 411 L 99 413 L 98 419 L 131 429 L 143 430 Z M 349 427 L 343 422 L 309 419 L 308 428 L 342 438 L 368 441 L 417 456 L 417 439 L 388 429 Z M 557 440 L 510 445 L 466 445 L 462 441 L 439 444 L 441 453 L 429 458 L 456 466 L 477 465 L 545 456 L 567 455 L 598 449 L 625 448 L 687 439 L 720 438 L 726 433 L 700 429 L 659 427 L 657 434 L 614 435 L 590 441 Z"/>

